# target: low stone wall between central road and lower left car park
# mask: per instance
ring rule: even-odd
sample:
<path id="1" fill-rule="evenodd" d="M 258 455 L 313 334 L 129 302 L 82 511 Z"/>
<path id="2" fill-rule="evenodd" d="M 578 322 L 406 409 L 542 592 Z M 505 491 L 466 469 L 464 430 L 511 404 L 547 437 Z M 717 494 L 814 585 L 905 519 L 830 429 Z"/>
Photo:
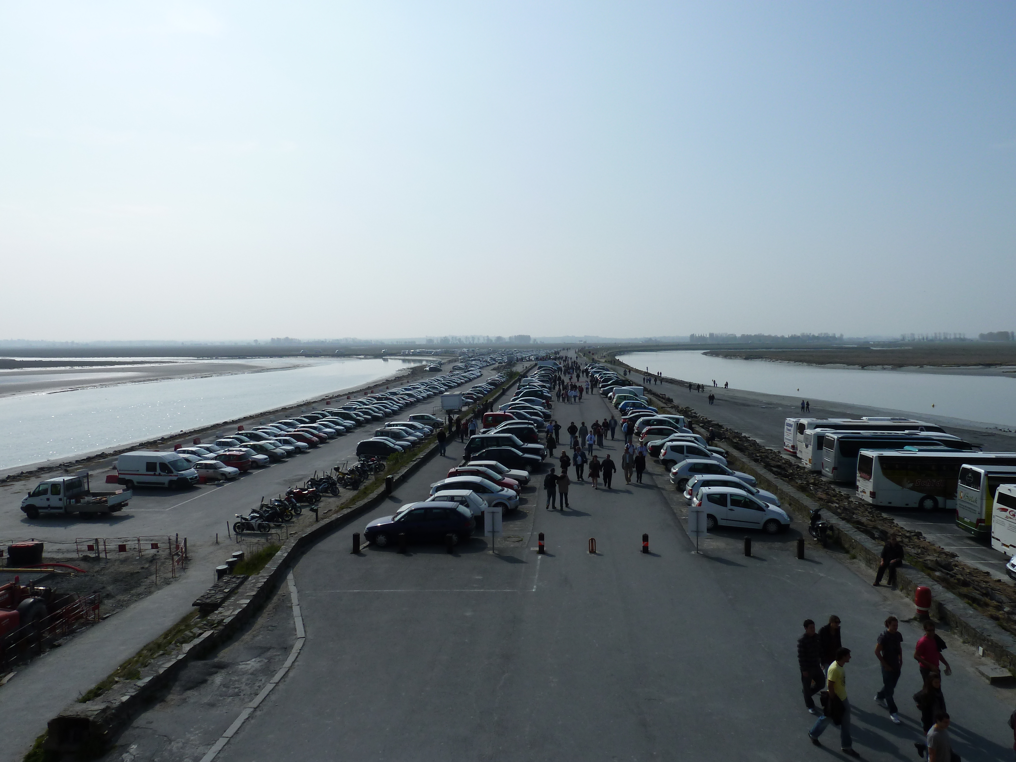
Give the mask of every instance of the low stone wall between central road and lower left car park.
<path id="1" fill-rule="evenodd" d="M 494 393 L 490 400 L 500 399 L 515 386 L 519 379 L 532 370 L 528 366 L 514 379 Z M 471 416 L 469 417 L 471 418 Z M 469 420 L 463 418 L 463 421 Z M 435 441 L 412 460 L 392 474 L 392 485 L 404 483 L 428 462 L 439 449 Z M 154 673 L 141 680 L 124 682 L 104 693 L 99 698 L 85 703 L 73 702 L 56 717 L 47 722 L 48 737 L 44 748 L 61 754 L 72 754 L 83 748 L 108 746 L 116 734 L 143 706 L 151 702 L 156 694 L 175 680 L 194 658 L 203 658 L 214 649 L 232 640 L 248 622 L 258 614 L 268 597 L 281 584 L 300 555 L 319 539 L 339 529 L 348 521 L 370 512 L 388 497 L 385 485 L 379 486 L 373 494 L 360 500 L 333 516 L 312 524 L 299 536 L 288 539 L 265 568 L 250 577 L 240 588 L 238 605 L 224 607 L 211 615 L 207 623 L 212 629 L 205 630 L 194 640 L 182 646 L 172 656 L 164 658 L 154 666 Z"/>

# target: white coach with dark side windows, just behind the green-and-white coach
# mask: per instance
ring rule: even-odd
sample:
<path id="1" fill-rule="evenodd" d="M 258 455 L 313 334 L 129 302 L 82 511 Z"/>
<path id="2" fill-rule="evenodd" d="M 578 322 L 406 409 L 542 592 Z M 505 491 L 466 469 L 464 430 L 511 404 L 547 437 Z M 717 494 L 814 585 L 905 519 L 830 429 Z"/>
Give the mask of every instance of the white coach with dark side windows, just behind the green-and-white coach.
<path id="1" fill-rule="evenodd" d="M 892 508 L 956 507 L 959 469 L 970 465 L 1016 465 L 1016 452 L 922 452 L 862 450 L 858 455 L 858 498 Z"/>

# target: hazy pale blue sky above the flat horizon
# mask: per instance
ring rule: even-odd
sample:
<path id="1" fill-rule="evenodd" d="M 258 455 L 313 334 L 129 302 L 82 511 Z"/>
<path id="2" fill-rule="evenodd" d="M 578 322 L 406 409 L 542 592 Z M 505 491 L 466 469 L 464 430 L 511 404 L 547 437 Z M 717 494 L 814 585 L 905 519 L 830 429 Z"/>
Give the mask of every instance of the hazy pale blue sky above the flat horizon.
<path id="1" fill-rule="evenodd" d="M 1012 2 L 0 3 L 0 338 L 1016 328 Z"/>

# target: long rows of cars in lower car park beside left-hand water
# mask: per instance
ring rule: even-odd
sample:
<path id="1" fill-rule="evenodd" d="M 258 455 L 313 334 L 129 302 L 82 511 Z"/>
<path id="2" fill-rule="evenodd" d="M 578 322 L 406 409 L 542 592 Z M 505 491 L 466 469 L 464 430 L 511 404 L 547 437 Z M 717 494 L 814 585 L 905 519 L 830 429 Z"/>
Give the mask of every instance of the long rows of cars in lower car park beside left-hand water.
<path id="1" fill-rule="evenodd" d="M 398 415 L 403 408 L 442 394 L 482 375 L 474 368 L 435 376 L 405 386 L 376 392 L 354 399 L 337 407 L 326 407 L 301 414 L 291 419 L 223 437 L 212 443 L 201 443 L 176 450 L 187 460 L 202 481 L 236 479 L 251 468 L 263 468 L 324 444 L 359 426 L 377 426 L 375 438 L 390 443 L 390 452 L 401 452 L 423 441 L 442 425 L 441 419 L 429 414 L 412 414 L 404 421 L 377 424 Z M 360 448 L 357 450 L 361 454 Z M 372 455 L 382 453 L 369 453 Z"/>

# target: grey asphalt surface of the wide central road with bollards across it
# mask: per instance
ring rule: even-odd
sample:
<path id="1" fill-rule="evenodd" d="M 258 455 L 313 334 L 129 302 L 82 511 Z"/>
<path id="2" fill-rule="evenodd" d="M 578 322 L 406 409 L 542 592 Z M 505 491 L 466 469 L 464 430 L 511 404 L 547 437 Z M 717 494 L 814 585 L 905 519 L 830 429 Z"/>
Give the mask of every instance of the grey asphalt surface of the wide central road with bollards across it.
<path id="1" fill-rule="evenodd" d="M 606 409 L 597 397 L 556 406 L 565 425 Z M 619 479 L 612 491 L 573 485 L 564 512 L 546 511 L 530 488 L 496 554 L 482 537 L 453 555 L 442 546 L 412 546 L 405 556 L 350 552 L 353 531 L 423 498 L 459 452 L 453 445 L 389 506 L 300 560 L 304 648 L 217 759 L 838 758 L 835 732 L 823 736 L 821 750 L 806 738 L 814 718 L 801 698 L 795 650 L 802 620 L 831 613 L 854 649 L 847 668 L 854 748 L 872 760 L 913 754 L 916 670 L 908 662 L 897 689 L 902 726 L 871 699 L 881 683 L 872 649 L 882 620 L 909 617 L 912 607 L 873 588 L 843 556 L 810 547 L 809 559 L 797 560 L 795 529 L 757 535 L 751 558 L 742 555 L 741 534 L 722 531 L 696 555 L 673 491 Z M 534 551 L 541 531 L 546 556 Z M 648 555 L 640 553 L 643 532 Z M 912 647 L 915 625 L 904 623 L 903 633 Z M 954 748 L 964 760 L 1009 758 L 1005 722 L 1016 696 L 983 683 L 972 672 L 976 657 L 946 639 Z M 192 716 L 167 703 L 135 726 L 157 718 L 147 726 L 174 739 Z M 207 722 L 202 743 L 233 717 Z M 141 751 L 133 747 L 130 759 L 173 758 L 166 747 Z"/>

